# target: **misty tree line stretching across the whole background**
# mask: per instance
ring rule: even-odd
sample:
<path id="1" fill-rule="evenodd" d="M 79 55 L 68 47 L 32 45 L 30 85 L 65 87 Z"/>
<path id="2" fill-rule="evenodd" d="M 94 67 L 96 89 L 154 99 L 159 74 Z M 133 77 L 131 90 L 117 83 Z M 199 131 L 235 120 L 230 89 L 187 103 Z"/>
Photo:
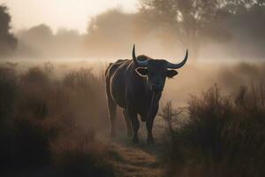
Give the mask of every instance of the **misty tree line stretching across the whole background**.
<path id="1" fill-rule="evenodd" d="M 8 9 L 1 5 L 1 55 L 16 51 L 25 57 L 119 57 L 132 43 L 143 48 L 158 43 L 165 53 L 188 48 L 196 59 L 202 48 L 215 42 L 227 43 L 231 53 L 243 47 L 245 56 L 265 56 L 264 0 L 140 0 L 139 4 L 135 13 L 114 9 L 95 16 L 86 34 L 68 29 L 54 34 L 41 24 L 15 35 L 10 32 Z"/>

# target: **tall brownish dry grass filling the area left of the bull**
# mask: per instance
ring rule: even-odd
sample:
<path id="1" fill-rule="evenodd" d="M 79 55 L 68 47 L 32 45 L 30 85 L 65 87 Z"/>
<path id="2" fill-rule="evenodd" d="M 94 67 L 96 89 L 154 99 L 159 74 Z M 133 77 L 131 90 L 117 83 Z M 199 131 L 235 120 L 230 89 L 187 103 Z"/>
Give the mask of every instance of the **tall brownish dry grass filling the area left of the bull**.
<path id="1" fill-rule="evenodd" d="M 95 139 L 108 122 L 102 77 L 53 70 L 0 68 L 0 175 L 114 176 Z"/>

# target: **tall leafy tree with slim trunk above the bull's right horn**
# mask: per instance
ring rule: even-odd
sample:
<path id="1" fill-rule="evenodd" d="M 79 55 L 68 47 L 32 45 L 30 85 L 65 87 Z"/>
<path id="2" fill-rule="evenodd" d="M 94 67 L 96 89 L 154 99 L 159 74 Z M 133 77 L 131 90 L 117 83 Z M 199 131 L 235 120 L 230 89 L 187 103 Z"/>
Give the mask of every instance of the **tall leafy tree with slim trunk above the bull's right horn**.
<path id="1" fill-rule="evenodd" d="M 206 36 L 227 40 L 230 35 L 218 21 L 230 14 L 225 0 L 140 0 L 140 12 L 156 20 L 156 26 L 175 33 L 176 41 L 198 58 Z M 215 25 L 213 25 L 215 23 Z"/>

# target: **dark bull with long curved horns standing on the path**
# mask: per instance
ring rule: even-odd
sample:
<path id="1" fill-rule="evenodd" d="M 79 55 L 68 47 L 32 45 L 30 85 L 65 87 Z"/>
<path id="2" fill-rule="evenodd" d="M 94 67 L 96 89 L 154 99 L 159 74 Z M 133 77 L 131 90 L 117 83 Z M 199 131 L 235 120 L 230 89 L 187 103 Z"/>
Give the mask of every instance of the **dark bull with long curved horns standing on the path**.
<path id="1" fill-rule="evenodd" d="M 176 69 L 186 64 L 186 57 L 178 64 L 164 59 L 136 57 L 133 45 L 133 60 L 124 59 L 110 64 L 105 72 L 106 94 L 110 114 L 110 135 L 115 136 L 117 105 L 123 109 L 127 135 L 133 135 L 133 142 L 139 142 L 140 119 L 146 122 L 148 143 L 153 143 L 152 128 L 158 111 L 166 78 L 178 74 Z"/>

